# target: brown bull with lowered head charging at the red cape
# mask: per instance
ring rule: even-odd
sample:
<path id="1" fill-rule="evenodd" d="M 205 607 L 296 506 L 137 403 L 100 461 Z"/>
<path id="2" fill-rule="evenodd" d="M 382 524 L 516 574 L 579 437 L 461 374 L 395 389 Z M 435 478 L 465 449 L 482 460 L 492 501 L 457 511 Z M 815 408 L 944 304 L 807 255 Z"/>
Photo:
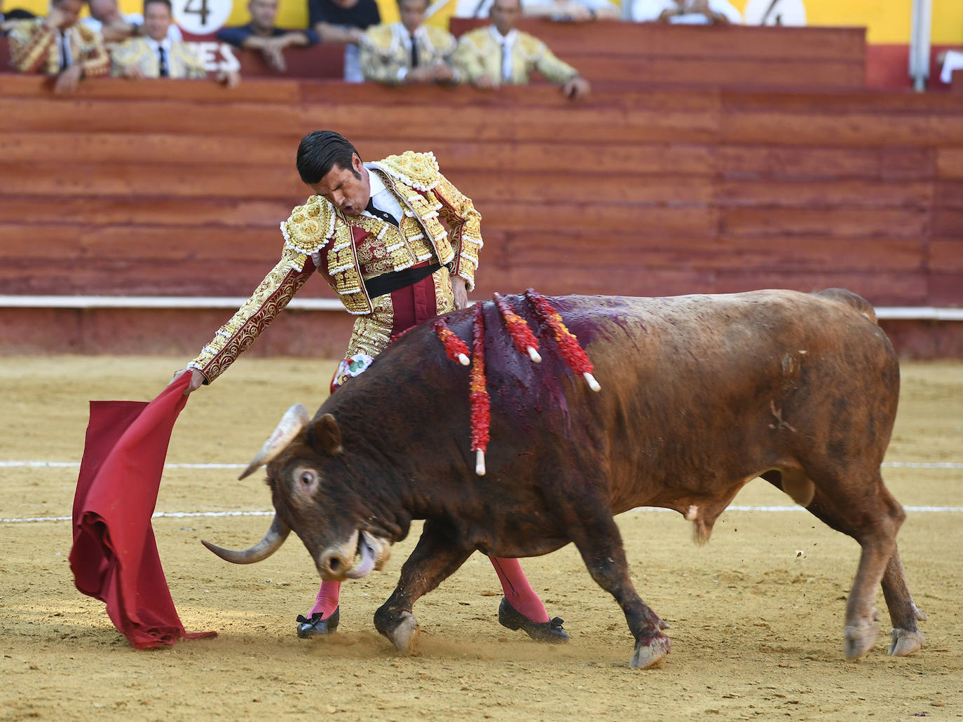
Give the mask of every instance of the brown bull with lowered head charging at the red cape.
<path id="1" fill-rule="evenodd" d="M 378 632 L 401 651 L 414 603 L 476 551 L 548 554 L 573 542 L 625 612 L 632 665 L 669 651 L 664 622 L 639 598 L 613 515 L 675 509 L 708 539 L 716 518 L 763 477 L 862 547 L 846 604 L 845 652 L 875 643 L 876 586 L 893 621 L 892 655 L 923 645 L 896 544 L 904 518 L 879 467 L 897 411 L 899 369 L 872 307 L 830 290 L 666 298 L 558 297 L 603 385 L 589 391 L 555 352 L 525 297 L 508 301 L 542 345 L 533 364 L 486 303 L 491 394 L 488 474 L 469 451 L 468 371 L 430 324 L 392 344 L 313 420 L 292 407 L 246 475 L 268 463 L 275 517 L 230 561 L 259 561 L 290 529 L 322 578 L 379 569 L 413 519 L 425 525 Z M 446 317 L 470 343 L 471 313 Z M 207 544 L 207 542 L 205 542 Z"/>

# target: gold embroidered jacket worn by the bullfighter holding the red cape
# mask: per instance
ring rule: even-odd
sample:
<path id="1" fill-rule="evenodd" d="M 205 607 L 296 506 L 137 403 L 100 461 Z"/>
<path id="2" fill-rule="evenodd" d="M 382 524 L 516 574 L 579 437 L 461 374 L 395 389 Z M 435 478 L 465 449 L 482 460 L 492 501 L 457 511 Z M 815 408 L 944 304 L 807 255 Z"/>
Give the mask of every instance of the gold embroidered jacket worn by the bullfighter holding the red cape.
<path id="1" fill-rule="evenodd" d="M 281 259 L 247 302 L 188 367 L 213 381 L 247 350 L 317 269 L 348 312 L 375 310 L 364 281 L 437 262 L 475 287 L 481 214 L 438 170 L 432 153 L 406 151 L 367 164 L 404 212 L 400 228 L 369 216 L 345 216 L 319 195 L 281 222 Z M 447 226 L 447 227 L 446 227 Z"/>

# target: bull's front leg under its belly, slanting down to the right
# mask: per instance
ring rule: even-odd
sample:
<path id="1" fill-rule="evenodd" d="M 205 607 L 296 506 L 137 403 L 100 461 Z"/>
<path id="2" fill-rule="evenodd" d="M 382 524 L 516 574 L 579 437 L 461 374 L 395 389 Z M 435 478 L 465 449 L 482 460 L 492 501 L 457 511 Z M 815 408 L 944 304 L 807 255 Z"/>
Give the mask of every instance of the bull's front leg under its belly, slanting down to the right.
<path id="1" fill-rule="evenodd" d="M 636 638 L 636 649 L 629 664 L 645 669 L 658 664 L 668 654 L 671 641 L 662 632 L 668 625 L 649 608 L 636 592 L 629 577 L 629 565 L 622 547 L 622 536 L 610 517 L 584 527 L 575 546 L 586 562 L 588 573 L 609 592 L 625 612 L 629 630 Z"/>

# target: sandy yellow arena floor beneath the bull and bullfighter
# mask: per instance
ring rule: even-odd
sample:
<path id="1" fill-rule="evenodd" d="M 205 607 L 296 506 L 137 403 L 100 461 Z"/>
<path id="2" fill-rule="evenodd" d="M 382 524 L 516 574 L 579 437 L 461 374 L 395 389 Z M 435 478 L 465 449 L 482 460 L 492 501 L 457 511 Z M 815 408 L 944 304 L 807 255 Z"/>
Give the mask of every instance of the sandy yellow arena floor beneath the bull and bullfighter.
<path id="1" fill-rule="evenodd" d="M 181 360 L 0 359 L 0 462 L 77 462 L 87 400 L 151 399 Z M 333 365 L 242 360 L 192 397 L 169 462 L 245 464 L 295 401 L 314 409 Z M 677 514 L 619 518 L 639 593 L 672 625 L 661 668 L 628 666 L 633 642 L 612 598 L 571 546 L 525 561 L 571 643 L 544 646 L 497 622 L 498 581 L 476 554 L 416 607 L 419 651 L 375 632 L 418 528 L 385 571 L 345 585 L 341 628 L 299 640 L 294 618 L 317 577 L 294 537 L 246 567 L 198 543 L 259 539 L 270 518 L 154 522 L 171 593 L 189 631 L 216 639 L 132 649 L 67 564 L 75 467 L 0 467 L 0 719 L 118 720 L 909 720 L 963 717 L 963 365 L 908 364 L 884 477 L 909 509 L 899 546 L 926 646 L 886 655 L 880 638 L 843 657 L 846 593 L 858 546 L 805 511 L 729 510 L 705 547 Z M 905 466 L 923 463 L 923 467 Z M 942 464 L 942 466 L 940 466 Z M 169 470 L 159 511 L 263 510 L 263 477 Z M 757 479 L 735 502 L 790 506 Z M 877 602 L 885 606 L 882 595 Z M 883 612 L 884 634 L 889 616 Z M 887 635 L 888 639 L 888 635 Z"/>

